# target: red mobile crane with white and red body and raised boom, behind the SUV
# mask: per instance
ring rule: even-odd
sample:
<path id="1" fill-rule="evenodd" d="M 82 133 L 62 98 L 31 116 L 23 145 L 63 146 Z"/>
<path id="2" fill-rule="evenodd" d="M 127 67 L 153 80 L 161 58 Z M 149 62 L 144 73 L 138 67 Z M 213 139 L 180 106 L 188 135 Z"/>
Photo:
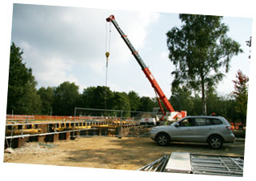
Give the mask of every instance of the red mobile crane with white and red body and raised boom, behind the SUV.
<path id="1" fill-rule="evenodd" d="M 154 76 L 150 72 L 150 69 L 146 66 L 144 61 L 142 61 L 142 58 L 139 56 L 138 52 L 134 49 L 134 46 L 130 43 L 126 34 L 123 33 L 121 28 L 118 26 L 118 23 L 115 21 L 114 15 L 110 15 L 109 18 L 106 18 L 106 22 L 112 22 L 113 23 L 114 27 L 118 30 L 118 33 L 121 35 L 123 41 L 125 41 L 126 45 L 130 49 L 131 53 L 134 55 L 136 61 L 141 66 L 143 73 L 145 73 L 147 79 L 150 81 L 152 87 L 154 88 L 154 91 L 157 94 L 158 104 L 159 104 L 159 106 L 161 108 L 161 111 L 162 111 L 162 119 L 161 120 L 163 120 L 164 117 L 166 116 L 166 112 L 164 112 L 160 100 L 162 100 L 162 103 L 165 105 L 168 112 L 171 113 L 170 116 L 171 116 L 172 120 L 177 120 L 177 119 L 179 120 L 182 117 L 185 117 L 186 116 L 186 111 L 182 111 L 182 112 L 175 112 L 174 111 L 174 108 L 170 104 L 169 100 L 166 98 L 166 95 L 162 92 L 162 89 L 158 85 L 158 82 L 154 79 Z"/>

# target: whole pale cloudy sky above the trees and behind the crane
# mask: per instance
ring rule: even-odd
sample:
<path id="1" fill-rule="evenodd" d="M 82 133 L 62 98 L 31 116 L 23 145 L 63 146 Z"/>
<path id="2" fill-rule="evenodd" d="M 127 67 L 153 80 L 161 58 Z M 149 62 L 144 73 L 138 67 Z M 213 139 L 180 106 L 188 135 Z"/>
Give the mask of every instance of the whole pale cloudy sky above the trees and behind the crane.
<path id="1" fill-rule="evenodd" d="M 11 41 L 22 48 L 23 61 L 33 70 L 37 89 L 58 86 L 64 81 L 74 82 L 79 92 L 90 86 L 106 85 L 106 37 L 110 36 L 107 86 L 112 91 L 134 90 L 139 96 L 155 96 L 130 49 L 114 26 L 106 22 L 110 14 L 114 14 L 163 92 L 170 97 L 174 65 L 168 58 L 166 33 L 181 26 L 178 14 L 14 4 Z M 222 22 L 230 27 L 228 35 L 244 51 L 232 59 L 230 72 L 218 85 L 219 94 L 225 95 L 234 90 L 232 80 L 238 69 L 249 76 L 250 49 L 246 41 L 251 36 L 252 18 L 225 16 Z"/>

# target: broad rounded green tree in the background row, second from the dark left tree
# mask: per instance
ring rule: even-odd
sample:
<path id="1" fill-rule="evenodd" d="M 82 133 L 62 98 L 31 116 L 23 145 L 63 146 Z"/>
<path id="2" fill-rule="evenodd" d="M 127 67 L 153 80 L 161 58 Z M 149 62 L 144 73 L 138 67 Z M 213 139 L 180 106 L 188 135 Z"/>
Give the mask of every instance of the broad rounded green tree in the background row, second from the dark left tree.
<path id="1" fill-rule="evenodd" d="M 78 85 L 69 81 L 54 88 L 53 112 L 58 116 L 74 115 L 74 108 L 80 104 L 81 96 Z"/>

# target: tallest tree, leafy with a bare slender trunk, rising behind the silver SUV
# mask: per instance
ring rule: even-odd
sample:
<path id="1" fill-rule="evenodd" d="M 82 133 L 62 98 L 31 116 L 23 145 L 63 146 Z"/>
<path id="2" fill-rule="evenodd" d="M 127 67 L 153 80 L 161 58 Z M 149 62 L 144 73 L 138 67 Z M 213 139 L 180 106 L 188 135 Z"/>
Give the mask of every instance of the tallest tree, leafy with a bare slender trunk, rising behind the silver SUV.
<path id="1" fill-rule="evenodd" d="M 222 81 L 224 68 L 242 52 L 237 41 L 227 37 L 222 17 L 180 14 L 180 29 L 166 33 L 169 58 L 175 65 L 173 87 L 185 85 L 202 95 L 202 114 L 206 115 L 206 90 Z"/>

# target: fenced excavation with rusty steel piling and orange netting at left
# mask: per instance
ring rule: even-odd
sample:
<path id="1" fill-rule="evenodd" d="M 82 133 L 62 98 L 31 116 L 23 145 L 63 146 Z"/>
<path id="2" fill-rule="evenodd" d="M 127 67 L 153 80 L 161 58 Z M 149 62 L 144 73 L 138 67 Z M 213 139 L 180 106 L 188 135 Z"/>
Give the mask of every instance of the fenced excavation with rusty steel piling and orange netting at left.
<path id="1" fill-rule="evenodd" d="M 56 142 L 78 136 L 135 136 L 139 132 L 134 129 L 139 127 L 142 130 L 140 121 L 122 119 L 107 116 L 7 115 L 5 147 L 20 148 L 28 141 Z M 144 129 L 148 131 L 149 128 Z"/>

